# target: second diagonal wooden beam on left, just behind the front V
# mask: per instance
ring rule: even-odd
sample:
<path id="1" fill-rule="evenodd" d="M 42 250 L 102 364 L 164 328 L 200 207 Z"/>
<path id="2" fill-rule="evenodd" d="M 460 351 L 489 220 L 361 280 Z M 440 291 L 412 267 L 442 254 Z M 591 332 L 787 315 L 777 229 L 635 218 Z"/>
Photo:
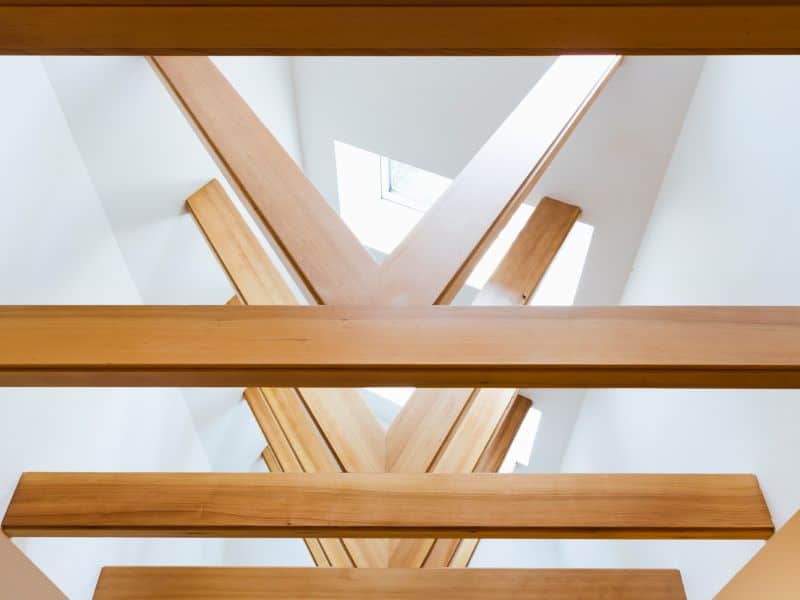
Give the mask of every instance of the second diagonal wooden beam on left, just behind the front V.
<path id="1" fill-rule="evenodd" d="M 211 181 L 195 192 L 187 200 L 187 206 L 244 304 L 298 304 L 289 285 L 218 182 Z M 364 472 L 384 470 L 383 428 L 357 390 L 274 391 L 278 393 L 284 400 L 297 404 L 295 412 L 310 413 L 314 420 L 310 427 L 318 427 L 323 433 L 342 468 Z M 309 451 L 313 453 L 314 448 L 312 446 Z M 328 451 L 322 453 L 327 459 Z"/>

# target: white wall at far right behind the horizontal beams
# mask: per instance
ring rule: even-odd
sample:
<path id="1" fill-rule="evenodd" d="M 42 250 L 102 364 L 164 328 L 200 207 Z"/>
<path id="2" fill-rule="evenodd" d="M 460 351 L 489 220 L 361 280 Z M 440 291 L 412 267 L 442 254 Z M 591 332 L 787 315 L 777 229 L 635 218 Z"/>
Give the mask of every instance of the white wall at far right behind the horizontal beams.
<path id="1" fill-rule="evenodd" d="M 625 304 L 800 304 L 800 59 L 709 58 Z M 800 392 L 587 395 L 565 471 L 756 473 L 775 524 L 800 505 Z M 569 542 L 566 564 L 680 568 L 710 598 L 759 542 Z"/>

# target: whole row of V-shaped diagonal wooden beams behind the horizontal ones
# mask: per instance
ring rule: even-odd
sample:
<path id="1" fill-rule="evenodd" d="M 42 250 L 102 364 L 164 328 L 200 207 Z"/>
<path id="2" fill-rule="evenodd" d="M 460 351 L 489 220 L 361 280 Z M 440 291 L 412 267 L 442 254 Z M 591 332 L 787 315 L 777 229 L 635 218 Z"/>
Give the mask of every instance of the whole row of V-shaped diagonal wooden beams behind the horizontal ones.
<path id="1" fill-rule="evenodd" d="M 528 197 L 620 59 L 557 60 L 399 247 L 378 265 L 207 58 L 152 59 L 309 300 L 449 303 Z M 219 183 L 188 206 L 244 304 L 297 296 Z M 476 303 L 526 304 L 580 210 L 537 206 Z M 355 390 L 248 389 L 270 470 L 496 471 L 530 401 L 516 390 L 418 390 L 384 434 Z M 320 566 L 466 566 L 476 541 L 307 540 Z"/>

